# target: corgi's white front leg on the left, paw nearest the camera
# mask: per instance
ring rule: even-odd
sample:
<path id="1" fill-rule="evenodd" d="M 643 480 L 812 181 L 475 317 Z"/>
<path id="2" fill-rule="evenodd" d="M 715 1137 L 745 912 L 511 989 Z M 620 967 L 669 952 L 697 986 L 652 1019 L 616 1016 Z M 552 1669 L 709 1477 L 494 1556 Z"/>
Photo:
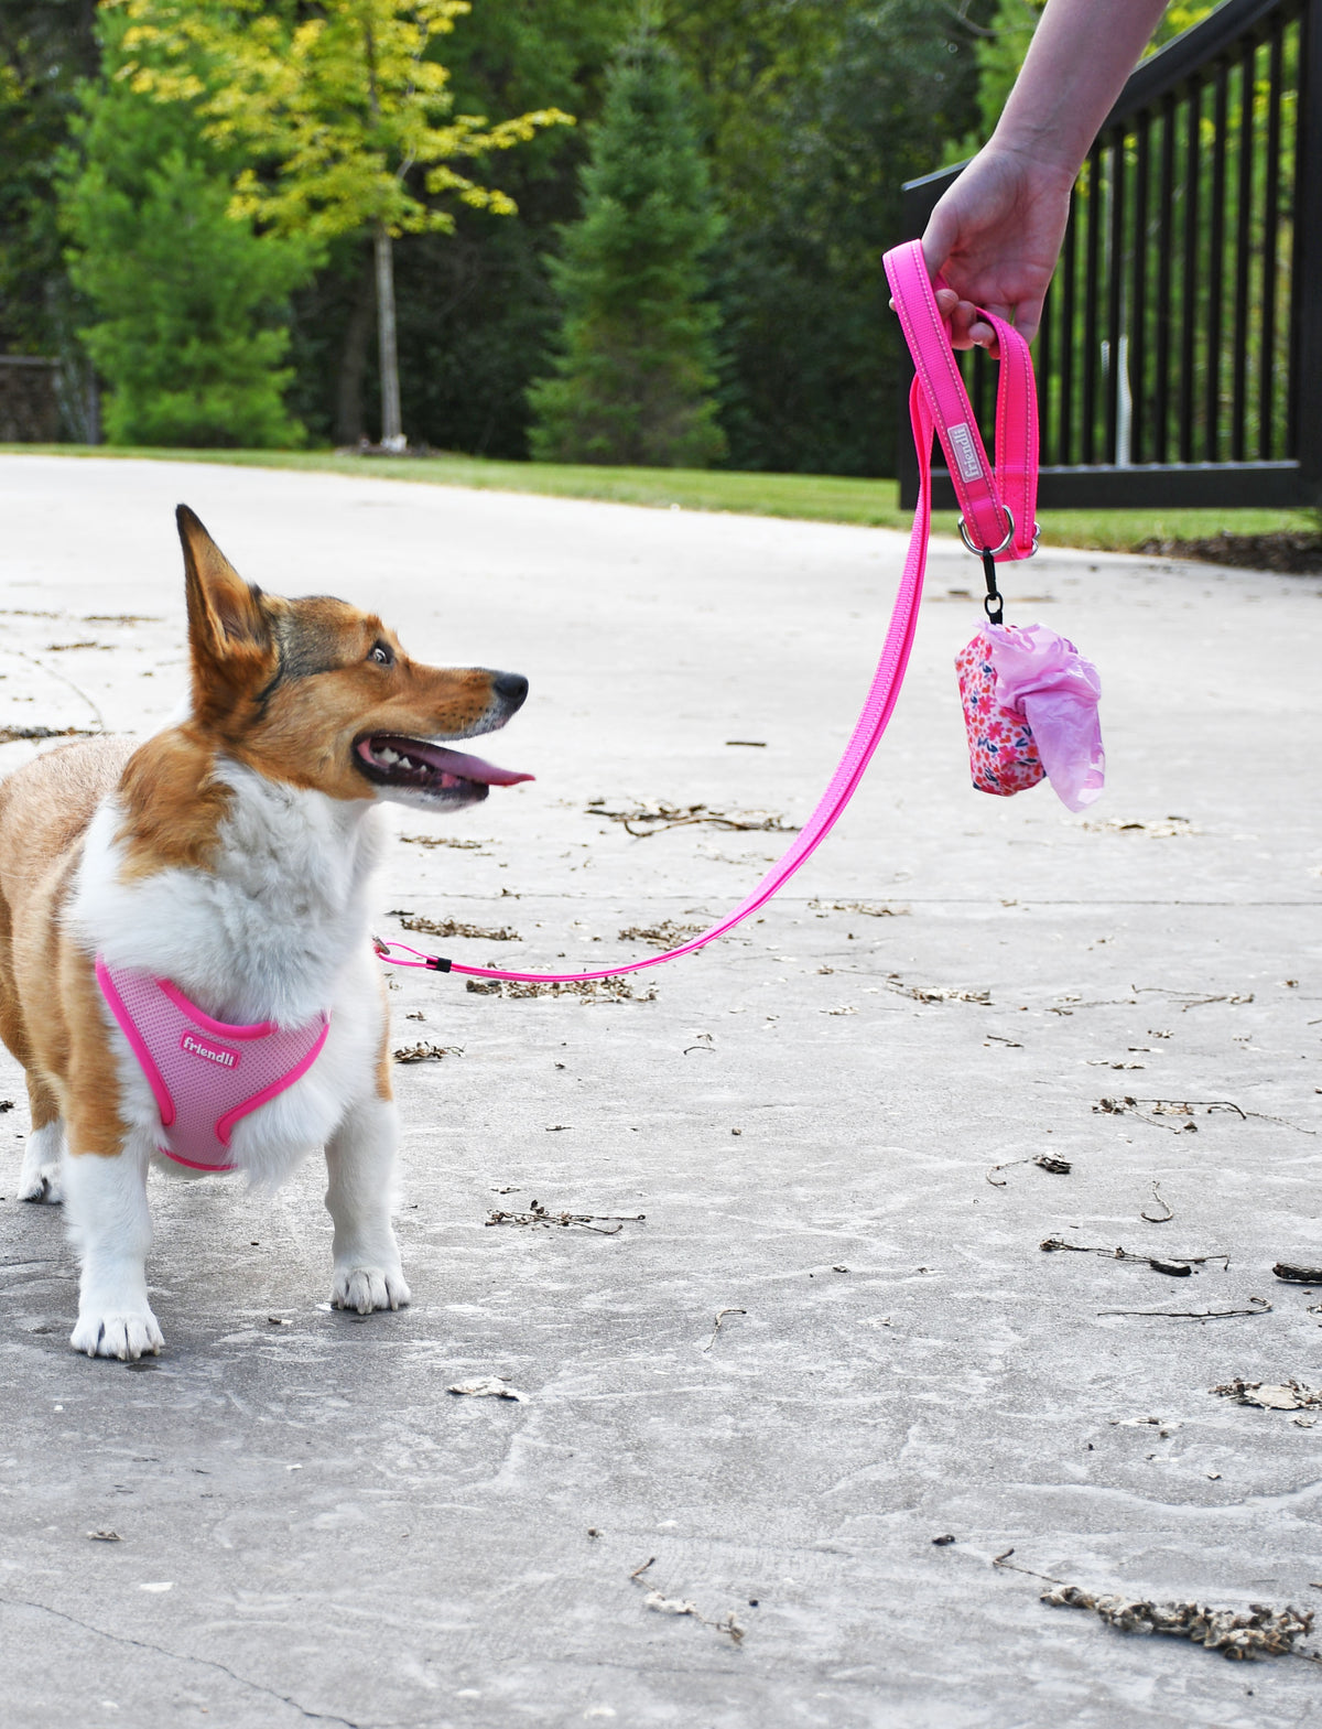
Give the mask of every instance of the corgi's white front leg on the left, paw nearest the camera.
<path id="1" fill-rule="evenodd" d="M 74 1143 L 76 1145 L 76 1143 Z M 164 1343 L 147 1302 L 150 1148 L 130 1136 L 118 1153 L 64 1157 L 64 1202 L 83 1271 L 78 1281 L 74 1350 L 131 1361 Z"/>

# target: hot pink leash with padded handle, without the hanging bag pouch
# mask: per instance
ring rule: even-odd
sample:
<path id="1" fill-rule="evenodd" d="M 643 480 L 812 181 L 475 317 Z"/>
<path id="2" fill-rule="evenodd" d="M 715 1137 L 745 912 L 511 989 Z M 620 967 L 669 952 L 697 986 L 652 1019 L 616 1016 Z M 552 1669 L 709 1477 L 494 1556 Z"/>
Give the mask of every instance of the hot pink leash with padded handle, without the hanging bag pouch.
<path id="1" fill-rule="evenodd" d="M 620 973 L 664 967 L 681 954 L 693 954 L 755 913 L 783 889 L 805 859 L 816 852 L 840 820 L 862 780 L 904 683 L 909 664 L 918 607 L 923 598 L 923 572 L 931 531 L 931 437 L 940 437 L 950 465 L 956 496 L 963 512 L 961 534 L 969 552 L 983 560 L 987 577 L 987 616 L 999 622 L 1001 597 L 995 588 L 997 560 L 1028 558 L 1037 548 L 1037 398 L 1028 344 L 1004 320 L 982 313 L 995 327 L 1001 342 L 1001 380 L 997 389 L 995 451 L 997 469 L 987 458 L 968 392 L 950 349 L 950 337 L 937 309 L 931 280 L 918 240 L 895 247 L 885 256 L 895 309 L 900 315 L 916 377 L 909 392 L 909 418 L 918 446 L 919 493 L 909 552 L 904 560 L 895 607 L 890 614 L 881 659 L 862 705 L 862 714 L 845 747 L 817 807 L 797 840 L 771 866 L 747 899 L 719 923 L 665 954 L 603 967 L 598 972 L 506 972 L 494 967 L 465 967 L 439 954 L 425 954 L 406 942 L 377 939 L 377 953 L 394 967 L 422 967 L 432 972 L 465 973 L 470 979 L 508 979 L 529 984 L 588 984 Z M 399 953 L 396 953 L 399 951 Z M 403 956 L 413 956 L 411 960 Z"/>

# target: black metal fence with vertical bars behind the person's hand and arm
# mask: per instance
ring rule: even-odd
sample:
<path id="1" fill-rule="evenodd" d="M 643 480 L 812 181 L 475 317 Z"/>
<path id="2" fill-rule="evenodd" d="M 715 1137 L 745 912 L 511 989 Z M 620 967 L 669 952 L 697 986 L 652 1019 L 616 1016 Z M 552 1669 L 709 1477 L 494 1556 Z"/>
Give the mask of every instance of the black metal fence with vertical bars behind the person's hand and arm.
<path id="1" fill-rule="evenodd" d="M 959 168 L 904 188 L 907 233 Z M 995 365 L 964 356 L 988 425 Z M 1035 349 L 1040 501 L 1322 501 L 1322 0 L 1225 0 L 1128 80 Z M 912 441 L 900 439 L 912 503 Z M 933 488 L 954 505 L 949 475 Z"/>

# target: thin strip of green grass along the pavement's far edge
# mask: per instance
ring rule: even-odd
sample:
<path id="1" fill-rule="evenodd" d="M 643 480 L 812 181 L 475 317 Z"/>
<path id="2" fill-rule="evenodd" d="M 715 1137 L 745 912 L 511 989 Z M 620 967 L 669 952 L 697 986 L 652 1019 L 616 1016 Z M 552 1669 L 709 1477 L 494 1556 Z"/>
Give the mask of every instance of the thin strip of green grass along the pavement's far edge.
<path id="1" fill-rule="evenodd" d="M 603 469 L 541 462 L 489 462 L 482 456 L 349 456 L 337 451 L 285 450 L 126 450 L 105 444 L 0 444 L 7 455 L 145 458 L 150 462 L 219 462 L 247 469 L 297 469 L 349 474 L 423 486 L 472 486 L 499 493 L 556 498 L 603 498 L 617 505 L 726 510 L 741 515 L 795 517 L 807 522 L 855 522 L 907 529 L 895 481 L 854 481 L 831 474 L 734 474 L 726 469 Z M 935 533 L 954 534 L 952 512 L 937 512 Z M 1042 543 L 1094 552 L 1132 552 L 1146 539 L 1201 539 L 1218 534 L 1272 534 L 1315 527 L 1303 510 L 1047 510 Z"/>

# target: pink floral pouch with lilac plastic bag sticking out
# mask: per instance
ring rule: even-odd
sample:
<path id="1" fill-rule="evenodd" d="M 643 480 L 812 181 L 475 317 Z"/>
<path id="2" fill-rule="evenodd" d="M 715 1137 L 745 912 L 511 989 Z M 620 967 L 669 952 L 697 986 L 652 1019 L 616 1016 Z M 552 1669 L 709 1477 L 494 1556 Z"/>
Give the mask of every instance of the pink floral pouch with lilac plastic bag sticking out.
<path id="1" fill-rule="evenodd" d="M 956 669 L 975 787 L 1007 797 L 1046 775 L 1071 811 L 1101 797 L 1101 678 L 1071 641 L 1044 624 L 983 624 Z"/>

